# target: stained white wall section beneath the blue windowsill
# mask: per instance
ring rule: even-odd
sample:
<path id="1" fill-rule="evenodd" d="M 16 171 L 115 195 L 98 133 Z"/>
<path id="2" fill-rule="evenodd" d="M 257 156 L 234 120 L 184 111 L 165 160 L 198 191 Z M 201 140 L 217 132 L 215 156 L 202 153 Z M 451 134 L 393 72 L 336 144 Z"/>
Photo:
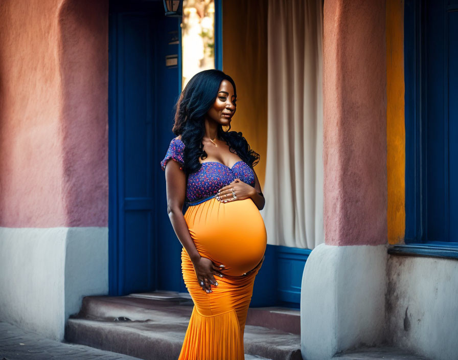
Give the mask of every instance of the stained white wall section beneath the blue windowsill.
<path id="1" fill-rule="evenodd" d="M 427 358 L 458 358 L 458 261 L 388 256 L 387 341 Z"/>

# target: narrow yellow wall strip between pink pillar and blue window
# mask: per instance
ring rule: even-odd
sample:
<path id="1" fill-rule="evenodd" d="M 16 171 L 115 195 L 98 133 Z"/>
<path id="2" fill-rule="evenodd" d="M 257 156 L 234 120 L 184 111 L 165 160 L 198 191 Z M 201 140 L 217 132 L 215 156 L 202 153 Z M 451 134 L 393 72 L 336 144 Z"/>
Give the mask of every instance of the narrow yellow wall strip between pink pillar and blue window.
<path id="1" fill-rule="evenodd" d="M 386 0 L 388 243 L 405 234 L 404 1 Z"/>

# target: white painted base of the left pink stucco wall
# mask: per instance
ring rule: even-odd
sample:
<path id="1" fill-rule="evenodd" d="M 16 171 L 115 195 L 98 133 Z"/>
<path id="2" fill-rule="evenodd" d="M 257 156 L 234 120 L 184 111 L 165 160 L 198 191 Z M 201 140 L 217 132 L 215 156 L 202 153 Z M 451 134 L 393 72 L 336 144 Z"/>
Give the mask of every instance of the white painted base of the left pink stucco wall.
<path id="1" fill-rule="evenodd" d="M 61 341 L 88 295 L 108 294 L 108 228 L 0 228 L 0 318 Z"/>

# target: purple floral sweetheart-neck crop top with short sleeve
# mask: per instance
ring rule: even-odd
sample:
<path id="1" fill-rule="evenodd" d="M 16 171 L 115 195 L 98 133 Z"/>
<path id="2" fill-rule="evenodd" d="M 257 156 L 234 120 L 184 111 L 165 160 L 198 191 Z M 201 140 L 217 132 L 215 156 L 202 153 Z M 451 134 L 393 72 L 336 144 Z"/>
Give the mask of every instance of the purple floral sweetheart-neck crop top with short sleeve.
<path id="1" fill-rule="evenodd" d="M 170 159 L 184 165 L 183 151 L 185 144 L 178 138 L 172 139 L 166 156 L 161 161 L 165 171 Z M 187 205 L 197 205 L 216 195 L 219 189 L 239 178 L 244 183 L 255 187 L 255 173 L 244 161 L 238 161 L 232 168 L 216 161 L 203 162 L 197 172 L 189 174 L 186 188 Z"/>

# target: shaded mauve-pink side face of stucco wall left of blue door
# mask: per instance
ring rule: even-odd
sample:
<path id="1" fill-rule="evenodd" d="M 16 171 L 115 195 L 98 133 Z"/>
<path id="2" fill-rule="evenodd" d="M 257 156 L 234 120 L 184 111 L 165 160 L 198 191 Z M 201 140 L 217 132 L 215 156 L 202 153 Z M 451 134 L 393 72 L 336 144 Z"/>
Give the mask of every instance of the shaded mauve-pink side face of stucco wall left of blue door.
<path id="1" fill-rule="evenodd" d="M 68 227 L 108 226 L 108 1 L 67 0 L 60 29 Z"/>

